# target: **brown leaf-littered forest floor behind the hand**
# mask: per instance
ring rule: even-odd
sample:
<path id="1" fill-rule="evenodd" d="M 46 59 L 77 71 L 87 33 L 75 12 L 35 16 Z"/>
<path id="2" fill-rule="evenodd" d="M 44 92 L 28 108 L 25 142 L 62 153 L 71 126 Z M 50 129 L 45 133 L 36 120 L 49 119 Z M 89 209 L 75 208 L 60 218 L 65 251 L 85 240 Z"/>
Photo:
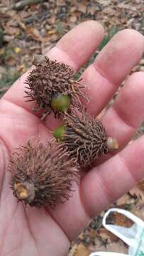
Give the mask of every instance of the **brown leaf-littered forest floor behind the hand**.
<path id="1" fill-rule="evenodd" d="M 106 31 L 104 41 L 92 55 L 92 63 L 111 37 L 123 28 L 134 28 L 144 35 L 144 0 L 1 0 L 0 1 L 0 94 L 31 66 L 34 53 L 45 54 L 78 23 L 94 19 Z M 86 68 L 87 65 L 80 70 Z M 133 68 L 144 71 L 144 56 Z M 136 137 L 144 132 L 144 125 Z M 144 220 L 143 182 L 113 205 L 130 210 Z M 111 207 L 113 207 L 111 206 Z M 68 256 L 88 256 L 96 250 L 127 252 L 126 245 L 101 225 L 96 216 L 79 238 L 72 242 Z M 122 215 L 112 215 L 111 223 L 129 227 L 132 223 Z"/>

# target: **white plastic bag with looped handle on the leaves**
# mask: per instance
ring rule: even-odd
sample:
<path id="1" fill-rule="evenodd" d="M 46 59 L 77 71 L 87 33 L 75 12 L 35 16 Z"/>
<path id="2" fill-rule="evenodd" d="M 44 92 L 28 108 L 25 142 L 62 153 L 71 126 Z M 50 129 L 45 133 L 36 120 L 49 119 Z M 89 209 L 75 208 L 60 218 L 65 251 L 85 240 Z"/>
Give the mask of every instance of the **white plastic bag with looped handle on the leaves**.
<path id="1" fill-rule="evenodd" d="M 111 225 L 106 223 L 106 218 L 110 213 L 121 213 L 128 219 L 133 221 L 131 228 L 124 228 L 120 225 Z M 140 218 L 130 213 L 128 210 L 119 208 L 109 209 L 103 218 L 104 228 L 121 238 L 128 245 L 128 255 L 144 256 L 144 222 Z M 118 252 L 92 252 L 89 256 L 126 256 L 126 254 Z"/>

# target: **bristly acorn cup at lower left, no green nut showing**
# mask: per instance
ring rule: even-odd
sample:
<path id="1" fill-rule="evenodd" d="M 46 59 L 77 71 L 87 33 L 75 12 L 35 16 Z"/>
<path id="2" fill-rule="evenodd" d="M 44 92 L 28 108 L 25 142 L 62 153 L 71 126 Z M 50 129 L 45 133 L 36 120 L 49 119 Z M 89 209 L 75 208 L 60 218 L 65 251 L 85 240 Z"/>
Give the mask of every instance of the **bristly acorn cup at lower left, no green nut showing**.
<path id="1" fill-rule="evenodd" d="M 48 146 L 28 142 L 11 155 L 10 186 L 13 196 L 25 205 L 40 207 L 65 203 L 70 198 L 72 181 L 78 181 L 79 170 L 67 149 L 52 140 Z"/>

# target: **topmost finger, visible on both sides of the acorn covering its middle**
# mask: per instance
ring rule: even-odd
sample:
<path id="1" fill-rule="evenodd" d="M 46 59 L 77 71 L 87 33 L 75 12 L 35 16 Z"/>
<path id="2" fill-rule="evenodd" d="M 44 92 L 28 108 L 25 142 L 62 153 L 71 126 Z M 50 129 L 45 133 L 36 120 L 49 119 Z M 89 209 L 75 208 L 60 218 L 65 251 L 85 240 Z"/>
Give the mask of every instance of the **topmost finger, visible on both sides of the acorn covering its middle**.
<path id="1" fill-rule="evenodd" d="M 62 61 L 78 70 L 99 46 L 103 36 L 104 30 L 99 23 L 86 21 L 68 32 L 47 55 L 50 59 Z M 23 99 L 27 76 L 28 73 L 25 73 L 19 78 L 4 98 L 31 112 L 35 103 Z"/>

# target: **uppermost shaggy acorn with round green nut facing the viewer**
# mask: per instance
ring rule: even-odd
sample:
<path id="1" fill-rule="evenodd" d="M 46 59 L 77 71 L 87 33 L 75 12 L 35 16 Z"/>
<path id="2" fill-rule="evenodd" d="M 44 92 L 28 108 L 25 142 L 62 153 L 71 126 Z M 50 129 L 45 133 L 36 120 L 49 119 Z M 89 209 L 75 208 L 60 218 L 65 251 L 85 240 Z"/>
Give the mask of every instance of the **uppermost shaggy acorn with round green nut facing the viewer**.
<path id="1" fill-rule="evenodd" d="M 84 95 L 81 89 L 84 87 L 74 80 L 74 70 L 65 63 L 50 60 L 44 55 L 34 55 L 33 65 L 35 68 L 29 73 L 26 79 L 27 101 L 34 101 L 37 106 L 34 111 L 45 109 L 46 114 L 55 113 L 59 117 L 60 113 L 65 113 L 70 109 L 70 105 L 81 110 L 82 104 L 79 97 Z M 42 118 L 43 118 L 42 117 Z"/>

